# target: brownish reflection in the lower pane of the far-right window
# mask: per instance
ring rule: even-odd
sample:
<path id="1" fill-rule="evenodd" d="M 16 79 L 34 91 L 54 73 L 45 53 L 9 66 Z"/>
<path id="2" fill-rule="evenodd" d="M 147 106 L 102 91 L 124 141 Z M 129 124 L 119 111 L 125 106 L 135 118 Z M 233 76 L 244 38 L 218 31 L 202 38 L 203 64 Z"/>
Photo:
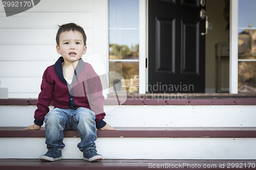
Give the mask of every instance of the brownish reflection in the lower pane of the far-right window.
<path id="1" fill-rule="evenodd" d="M 256 92 L 256 61 L 238 62 L 238 92 Z"/>

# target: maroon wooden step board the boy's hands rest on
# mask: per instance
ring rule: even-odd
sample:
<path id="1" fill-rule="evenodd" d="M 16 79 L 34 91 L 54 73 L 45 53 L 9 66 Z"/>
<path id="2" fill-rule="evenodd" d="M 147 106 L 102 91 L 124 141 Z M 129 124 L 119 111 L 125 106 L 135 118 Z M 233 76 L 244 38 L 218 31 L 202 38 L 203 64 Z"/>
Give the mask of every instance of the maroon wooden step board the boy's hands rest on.
<path id="1" fill-rule="evenodd" d="M 25 127 L 0 127 L 0 137 L 45 137 L 41 130 L 24 130 Z M 98 137 L 201 137 L 201 138 L 255 138 L 255 127 L 198 127 L 198 128 L 116 128 L 116 131 L 99 131 Z M 77 131 L 64 131 L 64 137 L 79 137 Z"/>

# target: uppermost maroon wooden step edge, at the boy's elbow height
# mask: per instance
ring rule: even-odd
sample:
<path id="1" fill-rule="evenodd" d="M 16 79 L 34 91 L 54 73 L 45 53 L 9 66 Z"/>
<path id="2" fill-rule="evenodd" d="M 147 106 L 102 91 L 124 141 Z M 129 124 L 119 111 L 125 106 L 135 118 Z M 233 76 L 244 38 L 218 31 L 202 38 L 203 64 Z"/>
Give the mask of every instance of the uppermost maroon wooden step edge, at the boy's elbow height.
<path id="1" fill-rule="evenodd" d="M 0 105 L 36 105 L 37 99 L 0 99 Z M 256 105 L 256 98 L 250 99 L 105 99 L 104 105 Z"/>

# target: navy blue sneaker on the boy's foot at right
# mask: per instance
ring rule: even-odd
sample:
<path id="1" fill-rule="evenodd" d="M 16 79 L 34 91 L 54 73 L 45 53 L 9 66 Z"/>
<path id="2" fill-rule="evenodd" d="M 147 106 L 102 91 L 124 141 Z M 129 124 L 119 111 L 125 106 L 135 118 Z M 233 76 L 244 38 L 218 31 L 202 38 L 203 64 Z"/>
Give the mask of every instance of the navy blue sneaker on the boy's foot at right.
<path id="1" fill-rule="evenodd" d="M 87 160 L 89 162 L 103 160 L 103 156 L 97 154 L 95 145 L 92 145 L 91 147 L 88 147 L 88 148 L 84 148 L 82 152 L 83 152 L 83 160 Z"/>

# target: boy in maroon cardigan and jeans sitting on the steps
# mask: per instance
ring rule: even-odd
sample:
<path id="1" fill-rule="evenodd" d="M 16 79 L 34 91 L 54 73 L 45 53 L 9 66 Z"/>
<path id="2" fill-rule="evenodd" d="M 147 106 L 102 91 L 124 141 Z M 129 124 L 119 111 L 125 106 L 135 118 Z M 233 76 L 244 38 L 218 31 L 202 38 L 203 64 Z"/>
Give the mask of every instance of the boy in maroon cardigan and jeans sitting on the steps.
<path id="1" fill-rule="evenodd" d="M 75 23 L 67 23 L 59 26 L 56 43 L 57 53 L 62 57 L 45 70 L 34 124 L 25 130 L 40 130 L 45 122 L 48 152 L 39 157 L 42 161 L 62 158 L 63 130 L 78 131 L 81 141 L 77 147 L 83 152 L 84 160 L 103 160 L 94 143 L 96 128 L 115 129 L 103 120 L 104 96 L 100 79 L 92 66 L 81 59 L 87 51 L 86 34 Z M 51 103 L 54 109 L 49 112 Z"/>

